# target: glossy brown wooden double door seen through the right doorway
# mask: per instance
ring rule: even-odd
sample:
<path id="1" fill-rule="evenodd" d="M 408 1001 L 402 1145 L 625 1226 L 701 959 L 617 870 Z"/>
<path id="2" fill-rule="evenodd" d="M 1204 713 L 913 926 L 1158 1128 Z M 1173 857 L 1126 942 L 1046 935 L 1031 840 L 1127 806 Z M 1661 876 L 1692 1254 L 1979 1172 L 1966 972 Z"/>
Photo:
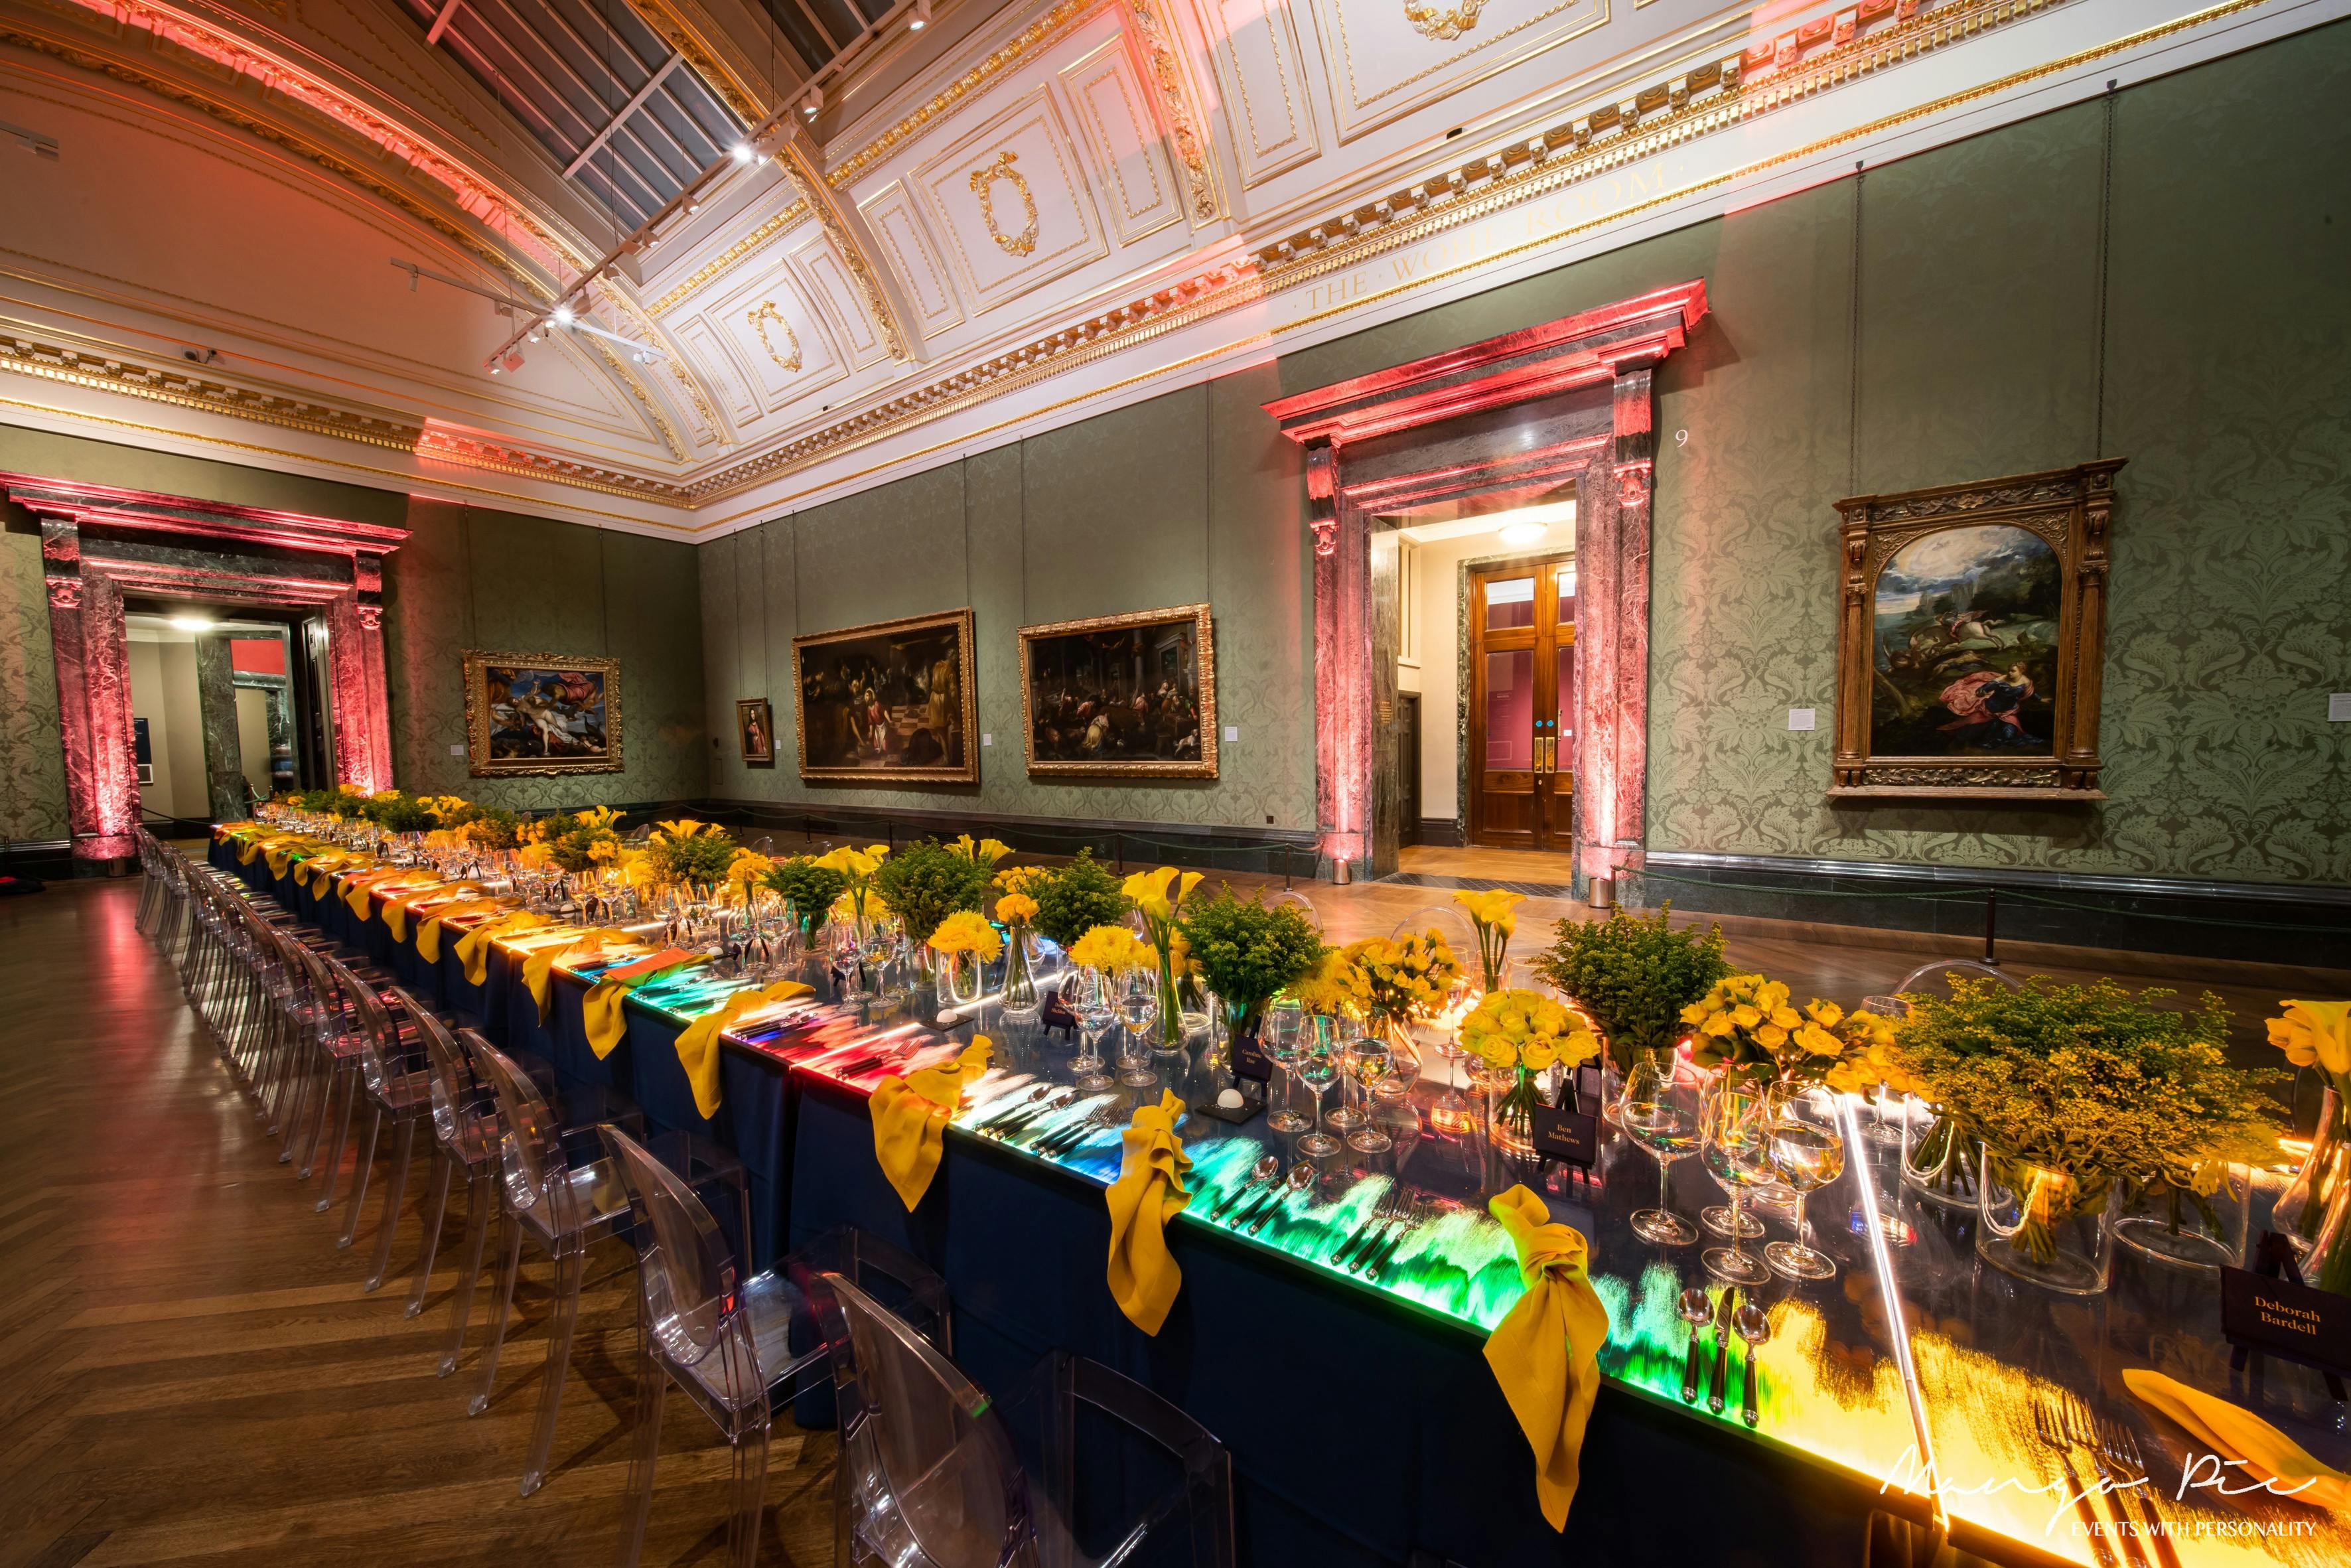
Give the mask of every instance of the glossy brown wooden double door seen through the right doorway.
<path id="1" fill-rule="evenodd" d="M 1469 842 L 1573 844 L 1575 564 L 1469 569 Z"/>

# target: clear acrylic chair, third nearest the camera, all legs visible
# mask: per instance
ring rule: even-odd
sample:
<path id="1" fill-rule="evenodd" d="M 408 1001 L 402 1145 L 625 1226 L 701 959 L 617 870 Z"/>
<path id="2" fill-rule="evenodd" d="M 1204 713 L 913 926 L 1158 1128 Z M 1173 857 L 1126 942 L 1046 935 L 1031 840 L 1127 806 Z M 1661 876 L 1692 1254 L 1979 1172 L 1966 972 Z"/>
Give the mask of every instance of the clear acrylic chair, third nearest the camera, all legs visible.
<path id="1" fill-rule="evenodd" d="M 531 1453 L 522 1465 L 522 1495 L 529 1497 L 548 1479 L 555 1418 L 562 1413 L 564 1378 L 571 1371 L 571 1333 L 578 1326 L 588 1248 L 628 1218 L 628 1187 L 618 1166 L 602 1152 L 595 1159 L 571 1161 L 555 1110 L 510 1056 L 473 1030 L 458 1039 L 473 1056 L 475 1077 L 498 1103 L 498 1206 L 505 1222 L 498 1302 L 489 1312 L 489 1342 L 482 1349 L 482 1389 L 465 1406 L 468 1415 L 487 1410 L 498 1387 L 498 1352 L 505 1347 L 505 1321 L 515 1309 L 524 1237 L 555 1260 L 545 1382 L 538 1389 Z"/>

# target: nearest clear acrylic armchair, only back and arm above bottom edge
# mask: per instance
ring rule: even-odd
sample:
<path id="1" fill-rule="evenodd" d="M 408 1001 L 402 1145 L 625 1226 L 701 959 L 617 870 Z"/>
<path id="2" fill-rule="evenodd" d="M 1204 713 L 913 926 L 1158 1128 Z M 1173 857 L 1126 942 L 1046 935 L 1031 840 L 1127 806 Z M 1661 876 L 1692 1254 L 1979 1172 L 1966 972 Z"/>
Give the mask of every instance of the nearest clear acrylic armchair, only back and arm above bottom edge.
<path id="1" fill-rule="evenodd" d="M 992 1401 L 846 1279 L 813 1300 L 842 1408 L 837 1563 L 1230 1568 L 1232 1458 L 1168 1401 L 1065 1352 Z"/>

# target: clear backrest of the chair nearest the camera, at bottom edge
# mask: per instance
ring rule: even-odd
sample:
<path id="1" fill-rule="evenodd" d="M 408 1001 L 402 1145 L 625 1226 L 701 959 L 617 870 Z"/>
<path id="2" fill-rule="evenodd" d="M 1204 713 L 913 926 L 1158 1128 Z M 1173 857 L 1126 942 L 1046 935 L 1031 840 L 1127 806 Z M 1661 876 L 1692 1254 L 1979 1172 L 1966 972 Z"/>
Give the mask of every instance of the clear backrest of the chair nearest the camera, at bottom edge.
<path id="1" fill-rule="evenodd" d="M 1004 1568 L 1032 1554 L 1027 1479 L 987 1394 L 842 1274 L 823 1286 L 853 1535 L 905 1568 Z"/>

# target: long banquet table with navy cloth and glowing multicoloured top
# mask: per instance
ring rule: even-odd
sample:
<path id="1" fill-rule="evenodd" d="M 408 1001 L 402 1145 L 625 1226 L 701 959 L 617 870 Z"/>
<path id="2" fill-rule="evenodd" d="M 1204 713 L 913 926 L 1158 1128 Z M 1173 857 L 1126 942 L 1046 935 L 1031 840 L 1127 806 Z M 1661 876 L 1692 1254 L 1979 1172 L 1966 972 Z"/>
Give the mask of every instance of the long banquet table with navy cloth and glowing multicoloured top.
<path id="1" fill-rule="evenodd" d="M 1700 1248 L 1660 1248 L 1627 1225 L 1634 1208 L 1655 1201 L 1655 1161 L 1603 1128 L 1592 1180 L 1516 1166 L 1474 1131 L 1441 1131 L 1429 1086 L 1385 1114 L 1394 1152 L 1321 1161 L 1312 1192 L 1284 1197 L 1258 1232 L 1234 1222 L 1251 1204 L 1225 1218 L 1215 1211 L 1260 1154 L 1293 1159 L 1291 1140 L 1270 1133 L 1262 1117 L 1234 1126 L 1204 1110 L 1190 1114 L 1183 1135 L 1197 1197 L 1168 1227 L 1183 1291 L 1150 1338 L 1103 1284 L 1103 1190 L 1117 1175 L 1117 1135 L 1138 1091 L 1020 1121 L 1037 1086 L 1067 1081 L 1067 1041 L 980 1016 L 994 1067 L 950 1124 L 938 1175 L 907 1213 L 875 1161 L 868 1095 L 884 1072 L 943 1060 L 973 1025 L 931 1030 L 837 1006 L 752 1013 L 722 1034 L 722 1103 L 703 1117 L 677 1034 L 741 980 L 696 966 L 637 987 L 625 1001 L 625 1039 L 597 1058 L 581 1004 L 602 966 L 560 964 L 541 1023 L 520 973 L 529 938 L 494 938 L 475 985 L 454 940 L 428 964 L 416 952 L 418 922 L 395 940 L 379 893 L 369 891 L 362 917 L 343 872 L 320 877 L 324 891 L 303 886 L 294 875 L 303 851 L 256 853 L 263 837 L 259 827 L 219 830 L 214 865 L 369 954 L 428 1004 L 541 1058 L 562 1086 L 614 1088 L 642 1107 L 649 1133 L 686 1131 L 731 1150 L 750 1185 L 752 1267 L 795 1239 L 856 1225 L 938 1267 L 952 1295 L 957 1361 L 980 1387 L 1009 1387 L 1063 1347 L 1178 1401 L 1232 1450 L 1239 1542 L 1251 1563 L 1486 1568 L 1608 1554 L 1886 1563 L 1937 1519 L 1925 1479 L 1937 1458 L 1940 1514 L 1954 1544 L 2012 1563 L 2095 1563 L 2104 1542 L 2074 1528 L 2064 1500 L 2034 1490 L 2059 1474 L 2036 1441 L 2036 1399 L 2067 1389 L 2099 1413 L 2128 1415 L 2121 1366 L 2158 1366 L 2245 1396 L 2231 1382 L 2226 1347 L 2212 1349 L 2210 1286 L 2125 1258 L 2106 1298 L 2038 1293 L 1975 1265 L 1965 1220 L 1916 1204 L 1857 1157 L 1813 1194 L 1815 1244 L 1838 1260 L 1838 1276 L 1759 1288 L 1773 1333 L 1756 1352 L 1759 1425 L 1749 1429 L 1737 1345 L 1721 1413 L 1681 1399 L 1688 1328 L 1676 1298 L 1709 1281 L 1697 1269 Z M 447 924 L 461 931 L 473 919 Z M 1187 1105 L 1215 1098 L 1218 1081 L 1192 1058 L 1157 1060 Z M 1140 1091 L 1150 1100 L 1159 1093 Z M 1117 1119 L 1067 1152 L 1030 1147 L 1105 1103 L 1117 1103 Z M 1683 1213 L 1719 1199 L 1695 1166 L 1681 1161 L 1672 1173 Z M 1613 1326 L 1563 1535 L 1535 1507 L 1526 1441 L 1481 1354 L 1486 1331 L 1521 1291 L 1512 1248 L 1483 1211 L 1483 1194 L 1512 1180 L 1542 1190 L 1552 1215 L 1589 1237 L 1592 1279 Z M 1411 1232 L 1378 1281 L 1333 1267 L 1333 1253 L 1396 1182 L 1427 1194 L 1436 1218 Z M 734 1227 L 724 1206 L 712 1208 Z M 2313 1453 L 2351 1465 L 2351 1443 L 2330 1429 L 2339 1406 L 2316 1373 L 2271 1366 L 2264 1387 L 2264 1415 Z M 2177 1429 L 2142 1420 L 2139 1434 L 2151 1453 L 2172 1455 L 2158 1458 L 2158 1474 L 2177 1479 Z M 1984 1486 L 1998 1476 L 2010 1486 Z M 2165 1512 L 2179 1521 L 2184 1563 L 2351 1561 L 2351 1523 L 2297 1502 L 2205 1490 L 2165 1495 Z M 2236 1528 L 2245 1521 L 2290 1528 Z M 2137 1568 L 2139 1559 L 2125 1561 Z"/>

